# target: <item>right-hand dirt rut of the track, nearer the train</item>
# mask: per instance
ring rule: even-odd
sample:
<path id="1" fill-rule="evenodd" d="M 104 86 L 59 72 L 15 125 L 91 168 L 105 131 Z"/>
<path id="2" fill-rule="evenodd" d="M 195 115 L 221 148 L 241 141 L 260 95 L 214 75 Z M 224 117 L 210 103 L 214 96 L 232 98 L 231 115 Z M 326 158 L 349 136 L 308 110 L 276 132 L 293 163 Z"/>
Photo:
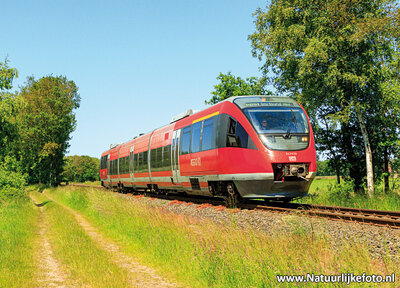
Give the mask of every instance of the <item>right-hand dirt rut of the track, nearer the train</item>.
<path id="1" fill-rule="evenodd" d="M 83 230 L 87 233 L 87 235 L 90 236 L 93 242 L 96 243 L 96 245 L 100 249 L 108 252 L 111 256 L 112 261 L 116 265 L 124 269 L 127 269 L 129 271 L 129 277 L 132 286 L 146 287 L 146 288 L 184 287 L 181 284 L 171 282 L 161 277 L 160 275 L 157 274 L 157 272 L 154 269 L 141 265 L 132 257 L 125 255 L 117 244 L 103 237 L 103 235 L 99 232 L 99 230 L 90 225 L 90 223 L 85 219 L 85 217 L 77 213 L 75 210 L 54 200 L 54 198 L 52 198 L 49 194 L 46 194 L 45 191 L 43 193 L 46 195 L 46 197 L 56 202 L 58 205 L 62 206 L 72 215 L 74 215 L 78 224 L 83 228 Z"/>

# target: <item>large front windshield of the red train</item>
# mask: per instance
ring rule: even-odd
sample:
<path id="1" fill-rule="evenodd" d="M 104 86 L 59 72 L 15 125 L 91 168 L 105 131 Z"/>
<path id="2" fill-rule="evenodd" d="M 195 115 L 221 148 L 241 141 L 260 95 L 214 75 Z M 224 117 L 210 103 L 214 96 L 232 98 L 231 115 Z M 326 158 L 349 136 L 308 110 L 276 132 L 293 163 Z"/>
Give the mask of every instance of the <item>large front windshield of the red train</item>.
<path id="1" fill-rule="evenodd" d="M 307 117 L 299 107 L 244 109 L 265 146 L 274 150 L 302 150 L 309 143 Z"/>

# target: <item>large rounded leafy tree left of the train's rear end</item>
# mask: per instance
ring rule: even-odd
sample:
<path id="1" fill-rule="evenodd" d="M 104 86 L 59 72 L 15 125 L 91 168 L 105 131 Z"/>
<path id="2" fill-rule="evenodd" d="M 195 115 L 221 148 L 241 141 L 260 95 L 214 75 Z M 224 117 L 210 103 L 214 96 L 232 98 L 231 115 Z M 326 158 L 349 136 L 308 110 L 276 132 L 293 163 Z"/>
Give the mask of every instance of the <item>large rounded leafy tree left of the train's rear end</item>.
<path id="1" fill-rule="evenodd" d="M 58 184 L 76 127 L 78 88 L 63 76 L 29 77 L 18 95 L 19 157 L 31 183 Z"/>

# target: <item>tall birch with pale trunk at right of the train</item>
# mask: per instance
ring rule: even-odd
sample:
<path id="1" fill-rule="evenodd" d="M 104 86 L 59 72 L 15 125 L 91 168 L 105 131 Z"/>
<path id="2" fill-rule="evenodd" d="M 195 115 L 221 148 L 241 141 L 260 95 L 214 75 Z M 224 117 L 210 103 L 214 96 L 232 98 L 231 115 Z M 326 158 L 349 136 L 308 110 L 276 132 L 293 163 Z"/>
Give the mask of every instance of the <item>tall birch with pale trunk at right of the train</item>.
<path id="1" fill-rule="evenodd" d="M 342 142 L 335 145 L 345 149 L 348 161 L 357 158 L 353 144 L 361 135 L 370 197 L 371 135 L 382 127 L 368 123 L 389 107 L 382 83 L 388 81 L 385 67 L 396 65 L 399 15 L 394 0 L 276 0 L 267 11 L 257 10 L 256 32 L 249 36 L 253 55 L 265 61 L 266 78 L 304 104 L 314 126 L 326 119 L 336 127 Z M 395 71 L 391 77 L 398 79 Z M 355 136 L 346 130 L 354 123 Z"/>

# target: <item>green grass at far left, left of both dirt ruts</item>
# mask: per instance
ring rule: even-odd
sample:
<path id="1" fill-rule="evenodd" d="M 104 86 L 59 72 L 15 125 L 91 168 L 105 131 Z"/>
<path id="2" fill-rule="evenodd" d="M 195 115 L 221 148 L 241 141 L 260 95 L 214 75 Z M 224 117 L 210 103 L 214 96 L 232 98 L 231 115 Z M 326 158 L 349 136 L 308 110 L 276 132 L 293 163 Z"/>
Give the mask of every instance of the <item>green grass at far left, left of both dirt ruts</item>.
<path id="1" fill-rule="evenodd" d="M 38 287 L 37 219 L 38 210 L 28 200 L 0 204 L 0 287 Z"/>

